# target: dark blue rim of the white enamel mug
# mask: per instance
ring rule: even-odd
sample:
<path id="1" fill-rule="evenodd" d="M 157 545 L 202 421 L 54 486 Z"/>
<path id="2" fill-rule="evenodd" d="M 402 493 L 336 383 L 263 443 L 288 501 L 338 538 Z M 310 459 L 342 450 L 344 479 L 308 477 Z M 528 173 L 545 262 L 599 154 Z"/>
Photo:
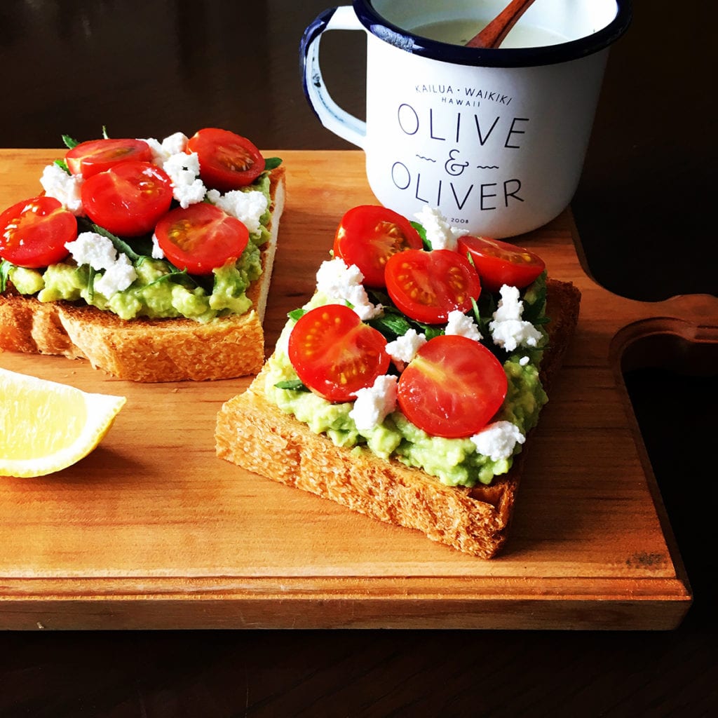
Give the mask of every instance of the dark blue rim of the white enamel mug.
<path id="1" fill-rule="evenodd" d="M 392 24 L 376 11 L 372 0 L 353 0 L 353 6 L 359 22 L 368 32 L 412 55 L 451 62 L 454 65 L 535 67 L 577 60 L 579 57 L 593 55 L 612 45 L 628 29 L 632 17 L 631 0 L 615 0 L 615 2 L 616 17 L 605 27 L 587 37 L 561 42 L 559 45 L 504 49 L 462 47 L 462 45 L 438 42 Z"/>

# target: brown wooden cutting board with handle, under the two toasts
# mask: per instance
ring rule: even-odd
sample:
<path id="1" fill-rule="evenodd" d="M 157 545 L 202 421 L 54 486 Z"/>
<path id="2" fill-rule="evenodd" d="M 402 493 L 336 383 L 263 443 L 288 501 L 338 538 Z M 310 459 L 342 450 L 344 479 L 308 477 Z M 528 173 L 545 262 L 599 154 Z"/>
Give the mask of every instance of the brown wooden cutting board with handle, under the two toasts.
<path id="1" fill-rule="evenodd" d="M 0 150 L 0 207 L 39 193 L 59 153 Z M 314 288 L 335 227 L 375 202 L 358 151 L 284 158 L 265 329 Z M 0 366 L 127 397 L 95 452 L 55 475 L 0 477 L 0 628 L 666 629 L 691 603 L 623 386 L 645 337 L 716 342 L 718 300 L 607 292 L 569 212 L 522 238 L 583 293 L 577 335 L 533 437 L 508 544 L 482 561 L 215 457 L 220 405 L 248 380 L 134 384 L 83 361 Z M 638 353 L 640 355 L 640 352 Z"/>

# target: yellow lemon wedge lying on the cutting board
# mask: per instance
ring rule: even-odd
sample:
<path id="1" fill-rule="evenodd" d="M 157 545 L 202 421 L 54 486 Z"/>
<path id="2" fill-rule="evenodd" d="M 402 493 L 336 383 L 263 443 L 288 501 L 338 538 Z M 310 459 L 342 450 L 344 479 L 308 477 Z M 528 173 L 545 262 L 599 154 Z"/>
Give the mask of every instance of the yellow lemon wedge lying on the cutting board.
<path id="1" fill-rule="evenodd" d="M 0 368 L 0 476 L 43 476 L 87 456 L 125 404 Z"/>

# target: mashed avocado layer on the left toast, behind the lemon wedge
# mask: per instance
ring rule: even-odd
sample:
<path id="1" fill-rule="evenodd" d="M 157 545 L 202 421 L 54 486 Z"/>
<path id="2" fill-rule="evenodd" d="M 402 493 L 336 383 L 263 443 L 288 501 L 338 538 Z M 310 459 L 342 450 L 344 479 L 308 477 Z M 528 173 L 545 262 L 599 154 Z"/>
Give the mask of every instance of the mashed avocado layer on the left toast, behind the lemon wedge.
<path id="1" fill-rule="evenodd" d="M 261 191 L 269 208 L 269 174 L 264 173 L 246 190 Z M 10 265 L 6 276 L 20 294 L 36 294 L 41 302 L 86 302 L 114 312 L 124 320 L 186 317 L 208 322 L 225 314 L 244 314 L 252 305 L 246 296 L 251 282 L 261 276 L 261 246 L 269 239 L 269 209 L 260 219 L 261 227 L 250 234 L 249 242 L 236 263 L 195 277 L 180 272 L 169 261 L 151 257 L 150 243 L 144 240 L 132 248 L 131 264 L 136 279 L 127 288 L 104 296 L 94 287 L 97 274 L 87 264 L 78 266 L 72 258 L 51 264 L 45 270 Z M 4 263 L 9 264 L 9 263 Z"/>

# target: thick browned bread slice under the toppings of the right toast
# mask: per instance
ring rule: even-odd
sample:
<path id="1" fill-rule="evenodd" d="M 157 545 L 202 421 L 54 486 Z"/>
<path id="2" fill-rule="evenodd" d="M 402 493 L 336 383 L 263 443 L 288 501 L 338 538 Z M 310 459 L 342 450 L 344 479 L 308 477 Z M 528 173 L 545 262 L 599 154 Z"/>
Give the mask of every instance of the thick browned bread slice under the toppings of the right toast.
<path id="1" fill-rule="evenodd" d="M 548 281 L 549 348 L 541 361 L 548 390 L 574 333 L 580 292 L 568 282 Z M 424 471 L 383 460 L 368 449 L 350 451 L 284 414 L 264 396 L 264 373 L 248 390 L 227 401 L 218 414 L 220 458 L 304 489 L 467 554 L 488 559 L 508 534 L 529 435 L 505 475 L 474 488 L 442 484 Z"/>

